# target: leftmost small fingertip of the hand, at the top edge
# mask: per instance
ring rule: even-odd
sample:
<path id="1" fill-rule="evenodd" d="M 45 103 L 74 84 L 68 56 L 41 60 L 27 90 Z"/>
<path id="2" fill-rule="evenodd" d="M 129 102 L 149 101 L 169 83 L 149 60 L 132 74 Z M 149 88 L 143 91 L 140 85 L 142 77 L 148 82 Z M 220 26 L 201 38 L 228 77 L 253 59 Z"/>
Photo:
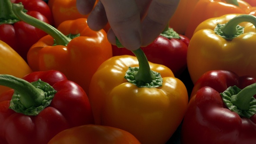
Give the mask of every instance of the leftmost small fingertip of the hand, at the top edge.
<path id="1" fill-rule="evenodd" d="M 95 4 L 95 0 L 76 0 L 76 8 L 81 14 L 89 14 Z"/>

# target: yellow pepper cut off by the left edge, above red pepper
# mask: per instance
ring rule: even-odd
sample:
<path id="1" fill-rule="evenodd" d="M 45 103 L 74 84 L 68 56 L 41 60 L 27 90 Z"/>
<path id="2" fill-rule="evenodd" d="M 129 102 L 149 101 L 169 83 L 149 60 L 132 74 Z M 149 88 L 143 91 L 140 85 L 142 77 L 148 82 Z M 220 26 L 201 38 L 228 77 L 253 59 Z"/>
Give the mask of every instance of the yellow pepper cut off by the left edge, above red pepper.
<path id="1" fill-rule="evenodd" d="M 25 60 L 7 43 L 0 40 L 0 74 L 13 75 L 22 78 L 32 72 Z M 0 94 L 10 88 L 0 86 Z"/>

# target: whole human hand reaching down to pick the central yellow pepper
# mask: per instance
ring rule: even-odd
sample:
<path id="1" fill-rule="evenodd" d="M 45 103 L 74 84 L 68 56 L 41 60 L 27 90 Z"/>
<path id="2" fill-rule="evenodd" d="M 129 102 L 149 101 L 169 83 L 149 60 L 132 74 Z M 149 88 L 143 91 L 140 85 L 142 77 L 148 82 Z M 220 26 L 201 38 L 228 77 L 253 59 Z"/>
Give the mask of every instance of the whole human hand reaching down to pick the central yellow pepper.
<path id="1" fill-rule="evenodd" d="M 80 13 L 88 14 L 92 30 L 102 29 L 107 23 L 108 41 L 115 45 L 115 36 L 129 50 L 147 46 L 168 25 L 179 0 L 76 0 Z M 93 9 L 93 10 L 92 10 Z"/>

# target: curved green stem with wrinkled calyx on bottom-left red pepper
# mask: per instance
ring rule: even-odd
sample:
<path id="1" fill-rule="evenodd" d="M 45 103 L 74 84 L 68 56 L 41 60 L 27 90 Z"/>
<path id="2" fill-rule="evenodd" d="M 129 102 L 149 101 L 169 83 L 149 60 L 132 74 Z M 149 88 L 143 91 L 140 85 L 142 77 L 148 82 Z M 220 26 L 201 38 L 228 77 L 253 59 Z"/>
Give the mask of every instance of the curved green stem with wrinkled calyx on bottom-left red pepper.
<path id="1" fill-rule="evenodd" d="M 0 85 L 14 89 L 9 108 L 24 115 L 38 115 L 56 93 L 52 86 L 40 79 L 30 83 L 12 75 L 0 75 Z"/>

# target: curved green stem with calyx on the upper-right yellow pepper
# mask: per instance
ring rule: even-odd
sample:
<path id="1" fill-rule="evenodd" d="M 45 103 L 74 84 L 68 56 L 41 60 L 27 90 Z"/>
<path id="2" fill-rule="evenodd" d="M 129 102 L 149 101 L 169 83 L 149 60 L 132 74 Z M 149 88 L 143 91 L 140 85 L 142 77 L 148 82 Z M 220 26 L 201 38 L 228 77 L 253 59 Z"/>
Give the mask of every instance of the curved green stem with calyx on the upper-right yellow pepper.
<path id="1" fill-rule="evenodd" d="M 242 22 L 252 23 L 256 27 L 256 16 L 247 14 L 236 16 L 225 24 L 217 24 L 214 31 L 224 39 L 232 40 L 243 34 L 244 27 L 238 25 Z"/>

